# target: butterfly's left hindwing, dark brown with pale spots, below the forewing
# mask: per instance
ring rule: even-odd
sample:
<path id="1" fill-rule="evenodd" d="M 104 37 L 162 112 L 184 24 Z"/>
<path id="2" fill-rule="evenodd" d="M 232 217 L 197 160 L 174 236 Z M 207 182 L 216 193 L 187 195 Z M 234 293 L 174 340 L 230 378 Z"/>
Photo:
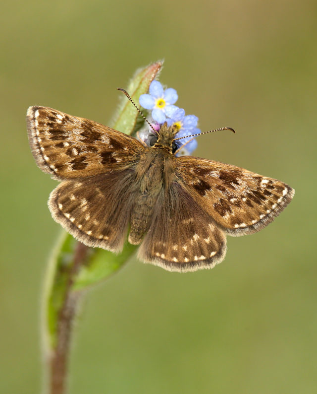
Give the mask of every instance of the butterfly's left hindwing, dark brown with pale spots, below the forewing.
<path id="1" fill-rule="evenodd" d="M 122 170 L 61 182 L 51 193 L 54 220 L 91 247 L 120 252 L 126 240 L 134 171 Z"/>

